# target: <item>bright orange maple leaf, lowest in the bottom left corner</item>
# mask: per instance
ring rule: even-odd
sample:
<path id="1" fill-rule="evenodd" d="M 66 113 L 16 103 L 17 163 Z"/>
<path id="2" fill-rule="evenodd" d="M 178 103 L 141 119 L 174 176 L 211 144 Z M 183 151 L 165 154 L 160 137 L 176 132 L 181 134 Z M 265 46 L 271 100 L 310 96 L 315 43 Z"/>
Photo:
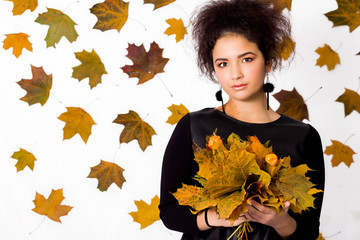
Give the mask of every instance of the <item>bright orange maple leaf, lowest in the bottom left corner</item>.
<path id="1" fill-rule="evenodd" d="M 73 207 L 60 205 L 64 200 L 62 189 L 52 190 L 48 199 L 43 195 L 36 193 L 35 208 L 32 210 L 40 215 L 45 215 L 55 222 L 61 222 L 60 217 L 65 216 Z"/>

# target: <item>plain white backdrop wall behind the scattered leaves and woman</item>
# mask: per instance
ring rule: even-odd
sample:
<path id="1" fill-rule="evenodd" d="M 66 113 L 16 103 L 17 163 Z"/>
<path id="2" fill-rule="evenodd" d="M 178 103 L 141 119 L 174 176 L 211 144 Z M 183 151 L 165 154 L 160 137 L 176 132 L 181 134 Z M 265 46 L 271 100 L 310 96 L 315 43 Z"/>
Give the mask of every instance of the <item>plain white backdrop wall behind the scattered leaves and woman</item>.
<path id="1" fill-rule="evenodd" d="M 219 105 L 214 94 L 218 89 L 200 76 L 188 35 L 176 43 L 168 36 L 165 20 L 182 18 L 189 25 L 189 16 L 201 0 L 177 0 L 153 10 L 153 4 L 131 0 L 129 19 L 120 32 L 93 29 L 97 18 L 90 8 L 99 0 L 39 0 L 35 11 L 13 16 L 13 4 L 0 1 L 0 41 L 5 34 L 23 32 L 28 35 L 33 51 L 23 50 L 16 58 L 12 49 L 0 48 L 0 239 L 179 239 L 180 234 L 164 227 L 161 221 L 140 230 L 130 212 L 137 211 L 134 200 L 150 203 L 159 195 L 162 155 L 174 129 L 166 123 L 172 104 L 184 104 L 190 111 Z M 74 22 L 78 39 L 69 43 L 62 38 L 56 48 L 46 48 L 44 41 L 48 26 L 35 23 L 46 8 L 65 11 Z M 335 100 L 345 88 L 359 91 L 360 28 L 349 32 L 347 26 L 333 28 L 325 13 L 335 10 L 335 0 L 293 0 L 291 19 L 296 41 L 296 56 L 289 67 L 271 76 L 281 89 L 294 87 L 308 99 L 309 121 L 322 137 L 323 148 L 331 140 L 346 142 L 356 154 L 349 167 L 331 166 L 325 155 L 326 191 L 321 216 L 321 232 L 325 239 L 360 239 L 360 116 L 353 112 L 344 115 L 344 105 Z M 190 29 L 188 28 L 188 31 Z M 152 42 L 164 48 L 169 58 L 165 72 L 137 85 L 137 78 L 129 78 L 120 67 L 131 65 L 125 57 L 128 44 Z M 316 66 L 318 47 L 328 44 L 339 53 L 341 64 L 332 71 Z M 94 49 L 108 74 L 93 89 L 88 79 L 79 82 L 72 78 L 72 68 L 80 62 L 75 52 Z M 26 92 L 16 83 L 31 79 L 31 67 L 43 67 L 53 76 L 51 94 L 44 106 L 21 101 Z M 171 96 L 162 81 L 172 93 Z M 321 88 L 320 91 L 318 89 Z M 313 95 L 316 93 L 315 95 Z M 274 109 L 279 103 L 271 98 Z M 65 123 L 58 117 L 66 107 L 81 107 L 94 119 L 92 134 L 85 144 L 77 134 L 63 140 Z M 156 131 L 152 146 L 141 151 L 136 141 L 119 143 L 123 125 L 112 123 L 118 114 L 129 110 L 139 113 Z M 24 148 L 32 152 L 34 170 L 16 171 L 12 154 Z M 114 162 L 125 169 L 126 182 L 122 189 L 115 184 L 101 192 L 97 179 L 87 178 L 90 167 L 100 160 Z M 62 223 L 51 221 L 33 212 L 36 192 L 47 197 L 52 189 L 63 189 L 62 204 L 73 206 Z M 30 234 L 31 233 L 31 234 Z"/>

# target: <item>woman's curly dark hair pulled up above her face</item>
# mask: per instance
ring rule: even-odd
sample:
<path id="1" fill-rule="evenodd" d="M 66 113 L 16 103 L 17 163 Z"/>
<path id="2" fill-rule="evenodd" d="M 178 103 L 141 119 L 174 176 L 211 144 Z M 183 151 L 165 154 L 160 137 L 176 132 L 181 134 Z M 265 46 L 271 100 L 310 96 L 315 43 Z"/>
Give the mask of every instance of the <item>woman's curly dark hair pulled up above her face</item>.
<path id="1" fill-rule="evenodd" d="M 225 33 L 239 34 L 256 43 L 265 61 L 272 60 L 272 70 L 281 65 L 283 41 L 291 39 L 289 19 L 267 0 L 212 0 L 197 9 L 192 18 L 197 64 L 214 82 L 212 50 Z"/>

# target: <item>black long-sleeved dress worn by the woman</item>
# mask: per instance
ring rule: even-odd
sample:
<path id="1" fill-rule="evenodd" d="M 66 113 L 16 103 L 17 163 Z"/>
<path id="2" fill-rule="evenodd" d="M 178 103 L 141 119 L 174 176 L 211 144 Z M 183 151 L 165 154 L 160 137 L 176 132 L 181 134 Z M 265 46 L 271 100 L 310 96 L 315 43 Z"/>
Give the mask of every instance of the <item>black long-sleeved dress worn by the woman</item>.
<path id="1" fill-rule="evenodd" d="M 212 228 L 200 231 L 196 215 L 187 206 L 181 206 L 171 193 L 176 192 L 182 183 L 198 185 L 192 178 L 198 171 L 194 161 L 193 144 L 204 148 L 205 137 L 217 129 L 217 135 L 226 140 L 231 133 L 241 139 L 257 136 L 261 143 L 270 140 L 273 151 L 279 158 L 290 156 L 291 165 L 307 164 L 315 170 L 308 172 L 316 188 L 324 190 L 324 159 L 321 139 L 318 132 L 309 124 L 299 122 L 286 115 L 273 122 L 257 124 L 234 119 L 216 109 L 206 108 L 184 116 L 177 124 L 166 148 L 162 167 L 160 192 L 160 218 L 169 229 L 183 232 L 186 240 L 226 240 L 236 228 Z M 312 240 L 319 235 L 319 219 L 323 193 L 315 195 L 315 208 L 300 214 L 289 210 L 296 220 L 296 231 L 288 239 Z M 269 226 L 251 222 L 254 231 L 249 240 L 281 239 Z M 235 236 L 232 239 L 236 239 Z"/>

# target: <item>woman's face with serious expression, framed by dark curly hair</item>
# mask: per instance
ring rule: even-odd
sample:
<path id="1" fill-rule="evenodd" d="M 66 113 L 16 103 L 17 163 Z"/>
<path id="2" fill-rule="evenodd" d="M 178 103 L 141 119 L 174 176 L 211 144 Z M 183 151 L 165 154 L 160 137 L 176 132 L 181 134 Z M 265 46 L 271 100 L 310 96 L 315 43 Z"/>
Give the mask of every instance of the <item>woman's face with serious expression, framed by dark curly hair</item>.
<path id="1" fill-rule="evenodd" d="M 265 73 L 271 65 L 265 65 L 256 43 L 241 35 L 225 34 L 216 41 L 212 56 L 215 75 L 231 99 L 253 101 L 264 96 Z"/>

